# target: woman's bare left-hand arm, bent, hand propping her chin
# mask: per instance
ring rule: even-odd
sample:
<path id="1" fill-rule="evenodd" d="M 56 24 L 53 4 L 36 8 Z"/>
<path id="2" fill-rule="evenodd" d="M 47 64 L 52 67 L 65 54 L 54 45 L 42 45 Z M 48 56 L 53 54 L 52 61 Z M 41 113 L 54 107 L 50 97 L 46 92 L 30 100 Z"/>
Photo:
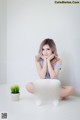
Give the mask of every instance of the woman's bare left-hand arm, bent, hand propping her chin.
<path id="1" fill-rule="evenodd" d="M 46 60 L 46 58 L 43 58 L 43 59 L 44 59 L 44 64 L 42 67 L 40 65 L 40 59 L 35 59 L 38 74 L 39 74 L 40 78 L 42 78 L 42 79 L 45 78 L 46 71 L 47 71 L 47 60 Z"/>

